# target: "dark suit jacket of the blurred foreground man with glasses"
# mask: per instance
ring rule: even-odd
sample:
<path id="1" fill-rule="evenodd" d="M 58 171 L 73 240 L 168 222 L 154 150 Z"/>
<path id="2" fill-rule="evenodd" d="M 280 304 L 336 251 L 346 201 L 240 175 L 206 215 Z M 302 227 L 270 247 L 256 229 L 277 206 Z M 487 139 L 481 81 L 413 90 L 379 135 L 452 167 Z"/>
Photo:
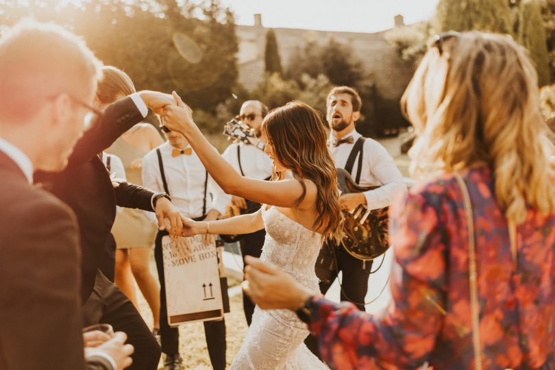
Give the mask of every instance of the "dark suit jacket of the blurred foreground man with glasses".
<path id="1" fill-rule="evenodd" d="M 0 369 L 83 369 L 75 215 L 1 152 L 0 179 Z"/>

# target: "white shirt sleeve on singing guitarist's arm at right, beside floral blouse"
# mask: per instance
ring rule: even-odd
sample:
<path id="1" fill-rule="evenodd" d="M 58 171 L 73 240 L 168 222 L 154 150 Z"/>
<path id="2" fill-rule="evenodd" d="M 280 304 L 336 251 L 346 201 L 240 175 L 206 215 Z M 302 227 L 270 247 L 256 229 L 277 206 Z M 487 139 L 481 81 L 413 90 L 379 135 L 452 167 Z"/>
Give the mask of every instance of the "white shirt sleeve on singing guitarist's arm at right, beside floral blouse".
<path id="1" fill-rule="evenodd" d="M 373 177 L 382 184 L 380 188 L 365 191 L 367 208 L 375 210 L 388 207 L 395 197 L 407 191 L 403 175 L 395 166 L 393 157 L 380 143 L 367 139 L 365 152 Z"/>

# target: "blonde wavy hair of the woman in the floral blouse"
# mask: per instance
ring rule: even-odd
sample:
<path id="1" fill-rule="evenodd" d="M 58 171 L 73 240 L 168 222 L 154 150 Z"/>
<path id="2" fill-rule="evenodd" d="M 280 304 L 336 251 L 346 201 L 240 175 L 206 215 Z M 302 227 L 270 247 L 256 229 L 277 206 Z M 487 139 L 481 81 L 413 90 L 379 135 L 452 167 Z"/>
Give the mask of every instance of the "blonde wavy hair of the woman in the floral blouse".
<path id="1" fill-rule="evenodd" d="M 526 49 L 508 35 L 449 32 L 435 39 L 401 99 L 417 138 L 410 172 L 423 177 L 486 163 L 506 217 L 555 212 L 554 147 Z"/>

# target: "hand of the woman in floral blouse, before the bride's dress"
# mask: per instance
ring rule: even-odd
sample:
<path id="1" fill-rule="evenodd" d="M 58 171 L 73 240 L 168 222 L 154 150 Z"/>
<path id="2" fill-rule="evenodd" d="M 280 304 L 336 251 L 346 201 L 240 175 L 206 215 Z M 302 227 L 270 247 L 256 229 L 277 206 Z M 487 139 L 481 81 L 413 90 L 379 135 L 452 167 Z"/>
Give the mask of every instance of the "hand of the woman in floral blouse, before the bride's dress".
<path id="1" fill-rule="evenodd" d="M 310 297 L 303 286 L 282 269 L 245 256 L 243 291 L 264 310 L 288 308 L 297 310 Z"/>

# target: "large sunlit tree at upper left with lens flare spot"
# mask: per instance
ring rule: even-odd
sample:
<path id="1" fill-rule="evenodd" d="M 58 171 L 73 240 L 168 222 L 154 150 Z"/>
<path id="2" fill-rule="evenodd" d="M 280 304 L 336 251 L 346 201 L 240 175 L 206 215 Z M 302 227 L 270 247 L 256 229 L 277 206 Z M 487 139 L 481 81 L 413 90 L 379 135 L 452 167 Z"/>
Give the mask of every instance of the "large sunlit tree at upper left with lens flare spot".
<path id="1" fill-rule="evenodd" d="M 176 90 L 193 109 L 214 112 L 236 84 L 234 16 L 218 0 L 0 0 L 3 25 L 23 16 L 66 25 L 136 88 Z"/>

